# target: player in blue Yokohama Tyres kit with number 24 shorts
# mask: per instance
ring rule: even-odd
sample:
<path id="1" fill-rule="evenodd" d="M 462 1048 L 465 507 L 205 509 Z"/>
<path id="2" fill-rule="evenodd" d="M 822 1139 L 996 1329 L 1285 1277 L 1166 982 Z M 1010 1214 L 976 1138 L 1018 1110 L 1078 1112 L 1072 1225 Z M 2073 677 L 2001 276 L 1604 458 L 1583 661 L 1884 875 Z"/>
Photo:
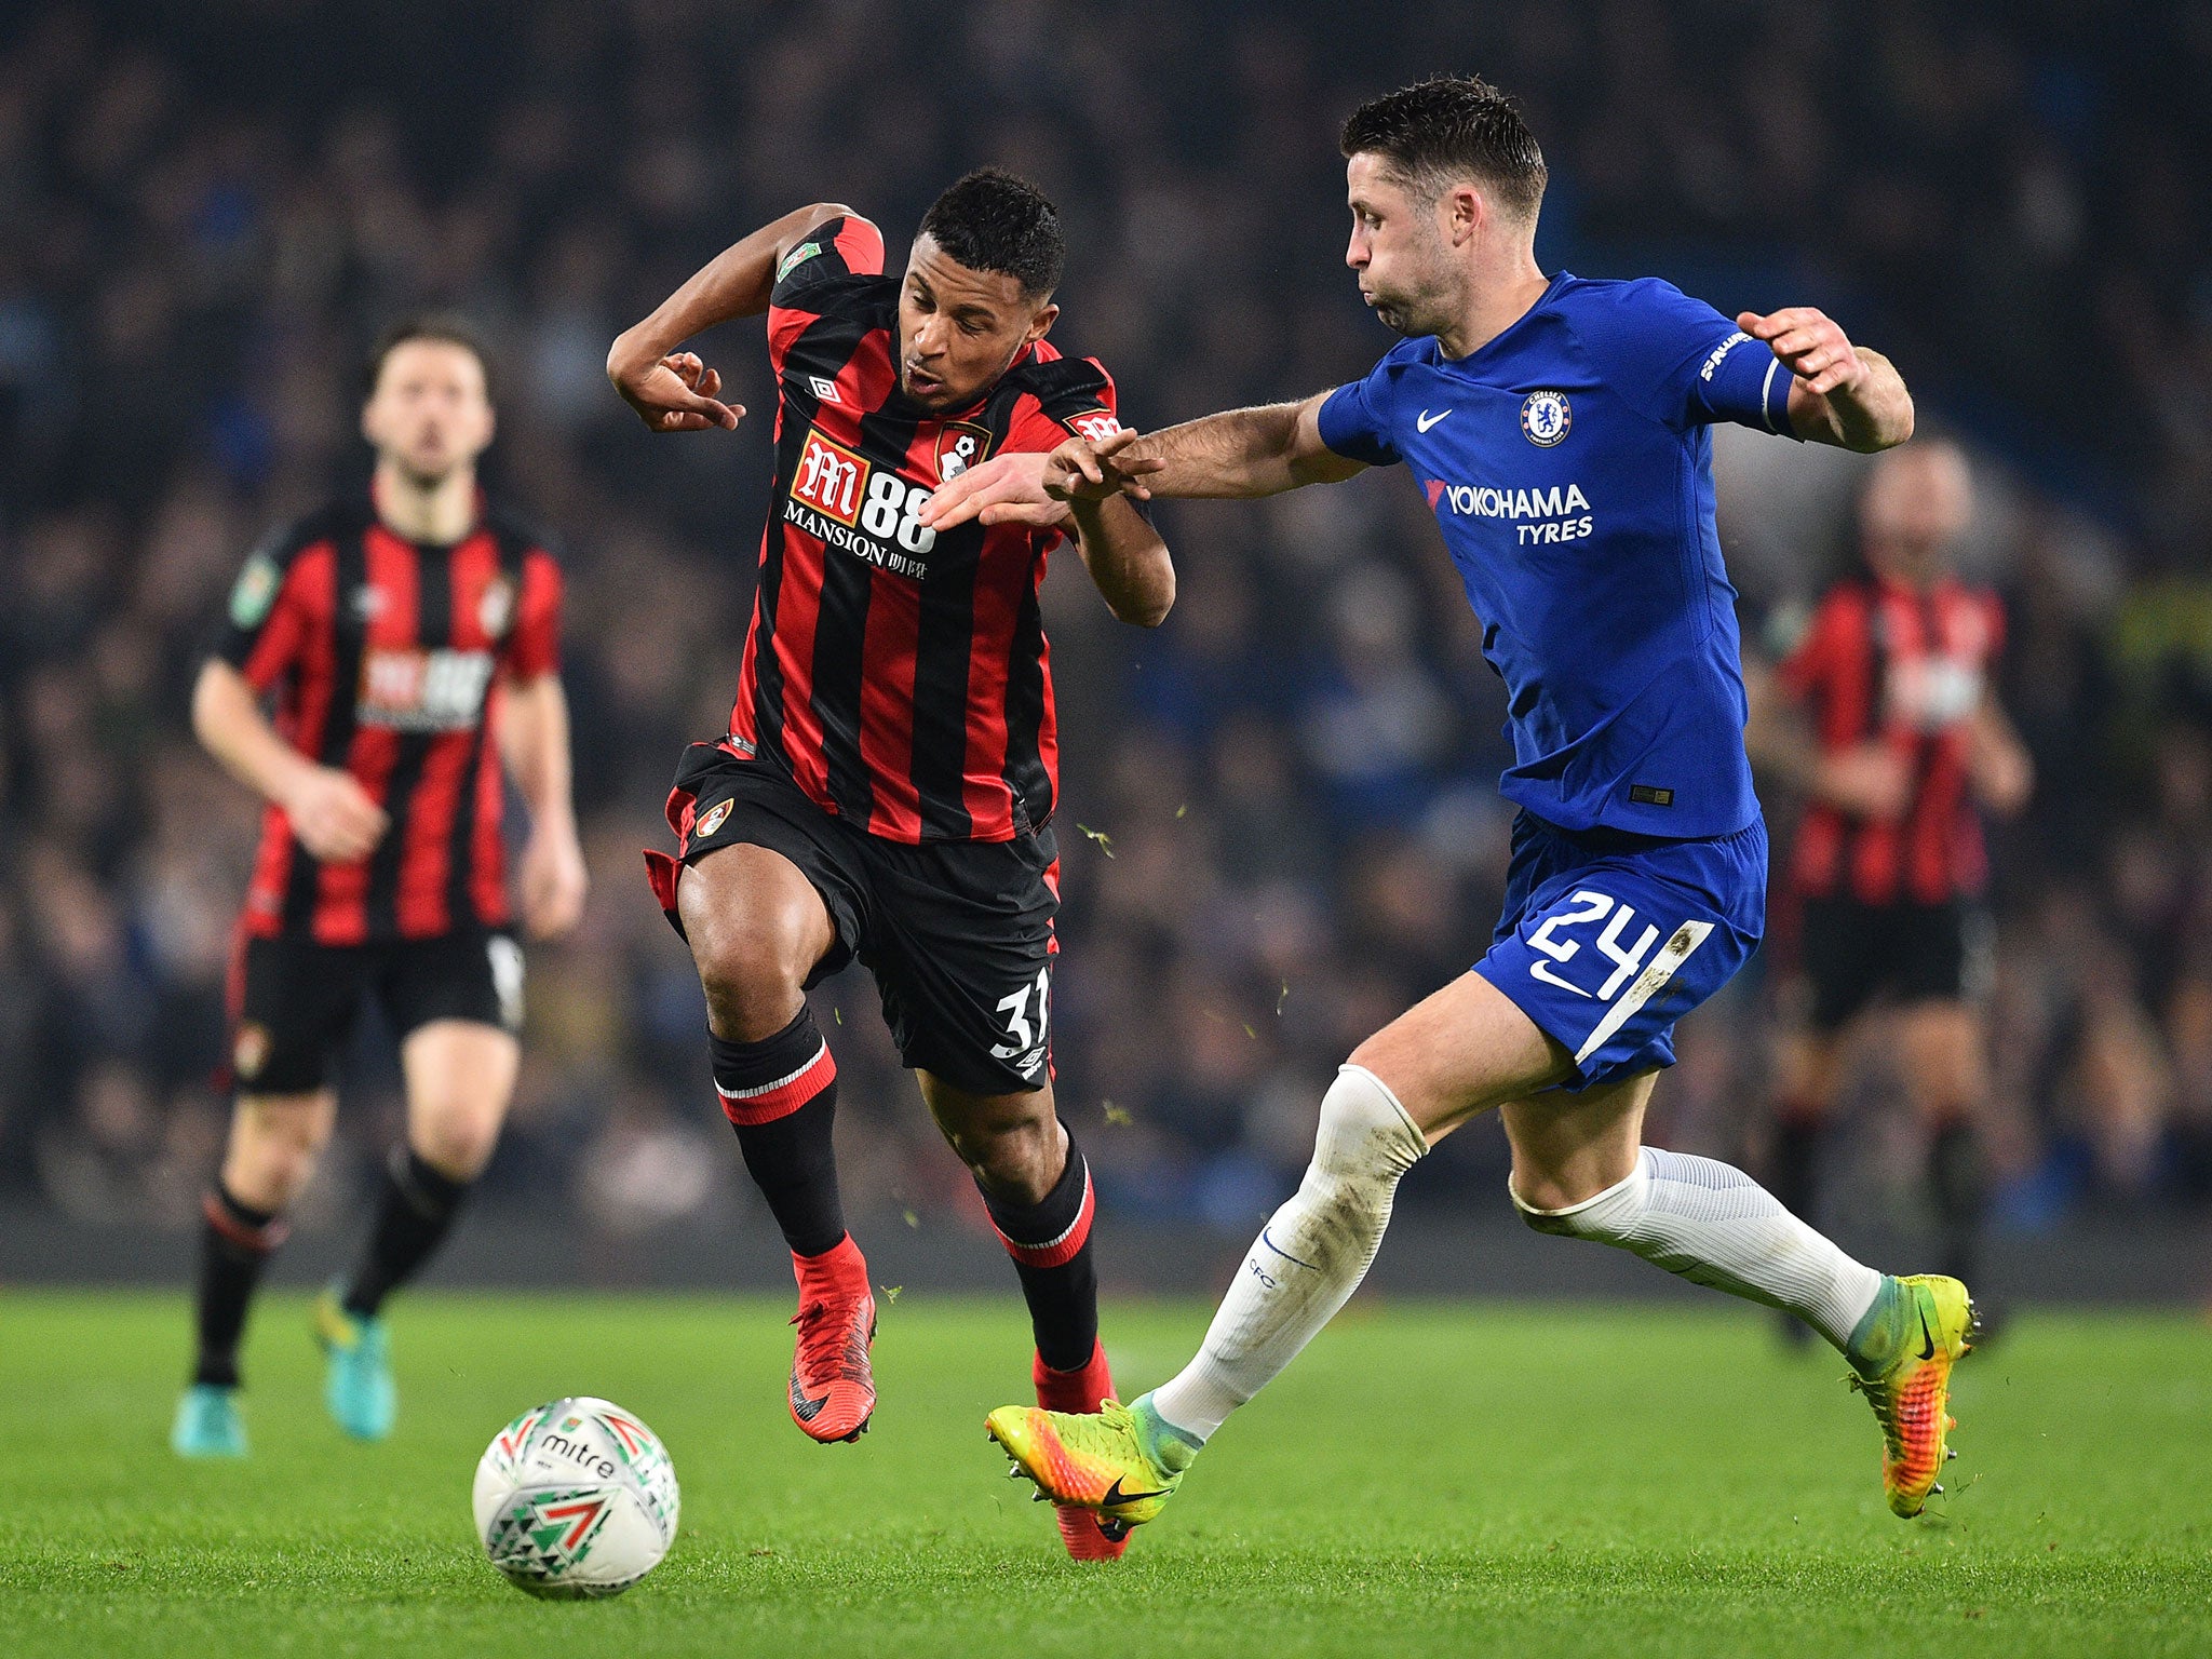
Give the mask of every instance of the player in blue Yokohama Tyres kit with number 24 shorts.
<path id="1" fill-rule="evenodd" d="M 1865 1267 L 1741 1170 L 1641 1139 L 1674 1022 L 1765 925 L 1710 427 L 1874 451 L 1911 436 L 1911 396 L 1809 307 L 1730 323 L 1663 281 L 1546 276 L 1542 153 L 1480 80 L 1367 104 L 1343 153 L 1345 261 L 1405 336 L 1365 380 L 1006 456 L 940 491 L 931 515 L 1053 522 L 1108 491 L 1272 495 L 1402 462 L 1511 699 L 1506 911 L 1469 973 L 1352 1053 L 1305 1181 L 1252 1243 L 1197 1358 L 1128 1409 L 1006 1407 L 991 1433 L 1055 1502 L 1150 1520 L 1208 1436 L 1343 1307 L 1398 1179 L 1498 1108 L 1531 1228 L 1785 1307 L 1843 1349 L 1882 1425 L 1889 1506 L 1918 1515 L 1942 1491 L 1966 1287 Z"/>

